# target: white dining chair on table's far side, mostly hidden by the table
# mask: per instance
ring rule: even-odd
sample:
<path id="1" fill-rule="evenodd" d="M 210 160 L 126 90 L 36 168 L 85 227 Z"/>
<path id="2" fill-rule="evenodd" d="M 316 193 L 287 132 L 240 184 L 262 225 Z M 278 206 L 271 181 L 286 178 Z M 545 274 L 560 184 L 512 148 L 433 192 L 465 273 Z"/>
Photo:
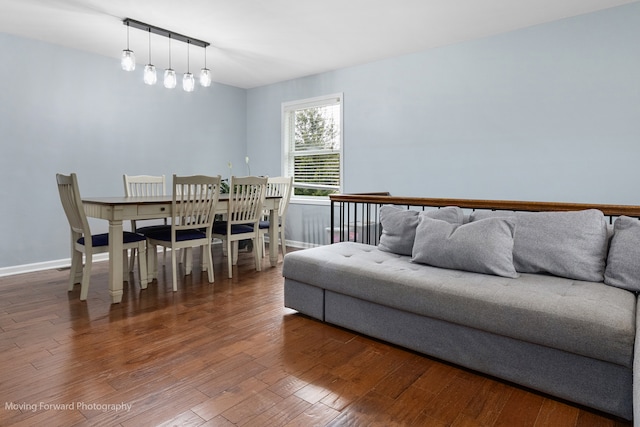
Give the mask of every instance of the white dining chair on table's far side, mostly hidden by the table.
<path id="1" fill-rule="evenodd" d="M 124 195 L 126 197 L 138 197 L 138 196 L 166 196 L 167 186 L 164 175 L 127 175 L 123 174 L 122 179 L 124 181 Z M 156 221 L 152 225 L 139 227 L 139 221 L 131 220 L 131 231 L 134 233 L 142 234 L 146 236 L 148 233 L 158 231 L 162 229 L 169 229 L 167 219 L 164 219 L 164 224 L 157 224 L 157 220 L 147 220 L 147 223 Z M 163 250 L 164 260 L 167 258 L 167 249 Z M 135 264 L 136 251 L 131 251 L 131 259 L 129 262 L 129 271 L 133 270 Z"/>

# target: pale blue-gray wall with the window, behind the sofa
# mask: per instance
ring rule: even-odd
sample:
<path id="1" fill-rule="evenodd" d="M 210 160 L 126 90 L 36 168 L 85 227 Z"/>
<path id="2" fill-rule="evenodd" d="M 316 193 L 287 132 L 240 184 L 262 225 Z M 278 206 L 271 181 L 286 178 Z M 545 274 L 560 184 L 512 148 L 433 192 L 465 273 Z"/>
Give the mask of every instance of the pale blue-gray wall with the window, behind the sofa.
<path id="1" fill-rule="evenodd" d="M 640 204 L 639 40 L 633 3 L 251 89 L 248 153 L 280 173 L 281 103 L 343 92 L 345 192 Z"/>

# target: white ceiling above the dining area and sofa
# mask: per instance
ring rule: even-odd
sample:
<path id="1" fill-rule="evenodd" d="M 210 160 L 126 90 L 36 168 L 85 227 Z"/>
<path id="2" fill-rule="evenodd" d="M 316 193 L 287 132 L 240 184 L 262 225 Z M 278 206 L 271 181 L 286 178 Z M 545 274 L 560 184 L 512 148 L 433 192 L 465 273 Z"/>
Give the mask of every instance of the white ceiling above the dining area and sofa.
<path id="1" fill-rule="evenodd" d="M 638 0 L 0 0 L 0 31 L 119 61 L 122 19 L 211 43 L 214 81 L 251 88 L 550 22 Z M 148 34 L 130 29 L 138 64 Z M 169 39 L 152 35 L 152 62 L 168 67 Z M 190 68 L 203 66 L 191 47 Z M 172 43 L 172 68 L 187 68 Z"/>

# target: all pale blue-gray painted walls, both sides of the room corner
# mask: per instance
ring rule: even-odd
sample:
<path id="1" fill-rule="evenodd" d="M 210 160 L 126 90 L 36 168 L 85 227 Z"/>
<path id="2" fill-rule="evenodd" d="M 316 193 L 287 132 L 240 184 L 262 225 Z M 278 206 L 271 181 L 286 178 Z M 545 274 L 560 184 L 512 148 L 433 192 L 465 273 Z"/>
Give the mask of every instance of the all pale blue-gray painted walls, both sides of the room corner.
<path id="1" fill-rule="evenodd" d="M 69 256 L 56 172 L 279 175 L 281 103 L 344 93 L 346 192 L 640 204 L 640 4 L 248 91 L 0 33 L 0 268 Z M 199 90 L 200 89 L 200 90 Z M 192 154 L 184 154 L 191 151 Z M 288 238 L 324 243 L 326 206 Z M 106 230 L 103 221 L 92 222 Z"/>

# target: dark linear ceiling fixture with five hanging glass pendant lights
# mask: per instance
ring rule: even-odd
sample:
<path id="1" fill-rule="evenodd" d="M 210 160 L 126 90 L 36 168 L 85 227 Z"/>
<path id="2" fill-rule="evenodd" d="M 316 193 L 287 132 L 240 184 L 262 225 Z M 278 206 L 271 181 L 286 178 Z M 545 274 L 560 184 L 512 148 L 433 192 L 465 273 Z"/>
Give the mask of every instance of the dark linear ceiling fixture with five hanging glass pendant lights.
<path id="1" fill-rule="evenodd" d="M 122 69 L 132 71 L 135 69 L 136 61 L 133 51 L 129 49 L 129 26 L 137 28 L 139 30 L 147 31 L 149 33 L 149 63 L 144 67 L 144 82 L 148 85 L 154 85 L 158 81 L 156 73 L 156 67 L 151 63 L 151 33 L 161 35 L 169 38 L 169 68 L 164 70 L 164 87 L 173 89 L 177 84 L 176 72 L 171 68 L 171 41 L 177 39 L 187 44 L 187 72 L 182 76 L 182 88 L 185 92 L 193 92 L 195 89 L 195 78 L 191 73 L 190 63 L 190 49 L 191 45 L 195 44 L 205 49 L 204 51 L 204 68 L 200 70 L 200 85 L 203 87 L 211 86 L 211 70 L 207 68 L 207 46 L 208 42 L 203 40 L 194 39 L 173 31 L 165 30 L 164 28 L 156 27 L 154 25 L 145 24 L 144 22 L 136 21 L 134 19 L 125 18 L 122 23 L 127 26 L 127 48 L 122 52 Z"/>

